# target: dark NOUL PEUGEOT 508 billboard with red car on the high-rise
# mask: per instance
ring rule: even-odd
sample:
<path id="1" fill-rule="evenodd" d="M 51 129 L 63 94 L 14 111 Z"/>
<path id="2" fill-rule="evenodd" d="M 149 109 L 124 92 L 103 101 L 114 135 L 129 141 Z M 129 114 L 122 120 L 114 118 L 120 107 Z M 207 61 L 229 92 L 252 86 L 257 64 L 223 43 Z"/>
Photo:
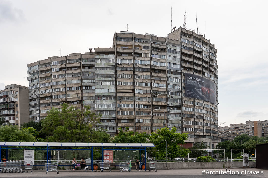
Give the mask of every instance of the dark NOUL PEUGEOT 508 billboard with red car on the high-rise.
<path id="1" fill-rule="evenodd" d="M 184 73 L 185 97 L 198 98 L 216 104 L 216 84 L 204 77 Z"/>

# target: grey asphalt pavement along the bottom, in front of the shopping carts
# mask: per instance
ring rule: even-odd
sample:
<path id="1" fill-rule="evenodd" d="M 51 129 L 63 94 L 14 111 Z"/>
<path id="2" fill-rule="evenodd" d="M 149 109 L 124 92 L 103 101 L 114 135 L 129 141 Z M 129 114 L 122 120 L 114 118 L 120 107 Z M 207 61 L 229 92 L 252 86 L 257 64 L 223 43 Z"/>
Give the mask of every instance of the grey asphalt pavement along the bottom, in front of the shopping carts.
<path id="1" fill-rule="evenodd" d="M 217 171 L 226 171 L 226 169 L 216 169 Z M 146 171 L 136 171 L 132 170 L 132 172 L 119 172 L 118 170 L 104 171 L 104 172 L 91 172 L 90 171 L 70 171 L 70 170 L 59 170 L 59 174 L 56 171 L 51 171 L 46 174 L 44 170 L 33 170 L 32 173 L 0 173 L 0 177 L 12 177 L 12 178 L 21 178 L 21 177 L 38 177 L 38 178 L 47 178 L 47 177 L 66 177 L 66 178 L 74 178 L 74 177 L 90 177 L 90 178 L 117 178 L 117 177 L 128 177 L 128 178 L 253 178 L 253 177 L 260 177 L 260 178 L 267 178 L 268 177 L 268 170 L 259 170 L 256 168 L 240 168 L 240 169 L 230 169 L 230 171 L 243 171 L 247 170 L 247 175 L 212 175 L 215 169 L 170 169 L 170 170 L 162 170 L 158 169 L 157 172 L 149 172 Z M 203 174 L 210 172 L 211 174 Z M 229 171 L 229 170 L 228 170 Z M 256 171 L 263 171 L 262 175 L 257 175 Z M 245 171 L 244 171 L 245 172 Z M 252 173 L 252 174 L 250 174 Z M 253 174 L 255 173 L 255 174 Z"/>

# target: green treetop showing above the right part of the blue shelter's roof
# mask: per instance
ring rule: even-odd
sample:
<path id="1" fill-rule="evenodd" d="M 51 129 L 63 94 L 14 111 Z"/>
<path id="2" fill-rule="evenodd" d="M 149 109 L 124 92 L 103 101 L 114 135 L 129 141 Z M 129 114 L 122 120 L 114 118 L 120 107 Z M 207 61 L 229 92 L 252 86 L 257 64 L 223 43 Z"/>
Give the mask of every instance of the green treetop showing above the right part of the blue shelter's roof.
<path id="1" fill-rule="evenodd" d="M 113 143 L 148 143 L 149 136 L 144 133 L 133 132 L 126 127 L 126 130 L 123 130 L 121 127 L 118 129 L 119 133 L 114 137 Z"/>

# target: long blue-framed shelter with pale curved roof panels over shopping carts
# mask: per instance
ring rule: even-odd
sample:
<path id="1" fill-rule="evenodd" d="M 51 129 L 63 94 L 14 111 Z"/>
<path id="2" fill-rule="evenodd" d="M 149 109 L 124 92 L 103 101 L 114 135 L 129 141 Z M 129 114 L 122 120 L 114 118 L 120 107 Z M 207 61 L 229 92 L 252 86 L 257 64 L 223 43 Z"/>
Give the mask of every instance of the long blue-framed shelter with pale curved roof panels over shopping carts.
<path id="1" fill-rule="evenodd" d="M 38 147 L 38 148 L 37 148 Z M 73 148 L 72 148 L 73 147 Z M 53 150 L 90 150 L 91 151 L 91 171 L 93 171 L 93 148 L 100 148 L 101 161 L 104 162 L 105 150 L 139 150 L 144 151 L 146 158 L 146 148 L 154 147 L 152 143 L 55 143 L 55 142 L 0 142 L 0 162 L 2 161 L 2 151 L 6 151 L 6 161 L 8 161 L 8 150 L 45 150 L 46 162 L 51 162 L 51 151 Z M 146 171 L 146 159 L 145 159 Z"/>

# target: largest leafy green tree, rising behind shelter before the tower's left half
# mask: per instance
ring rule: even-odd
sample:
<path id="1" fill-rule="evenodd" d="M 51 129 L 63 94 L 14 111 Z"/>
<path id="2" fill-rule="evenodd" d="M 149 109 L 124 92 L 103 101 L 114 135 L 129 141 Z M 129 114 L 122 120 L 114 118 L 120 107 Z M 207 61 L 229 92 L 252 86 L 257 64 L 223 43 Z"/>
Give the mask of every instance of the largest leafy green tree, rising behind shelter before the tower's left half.
<path id="1" fill-rule="evenodd" d="M 61 110 L 52 108 L 42 120 L 42 134 L 50 142 L 90 142 L 101 114 L 90 111 L 89 106 L 76 110 L 64 103 Z"/>

